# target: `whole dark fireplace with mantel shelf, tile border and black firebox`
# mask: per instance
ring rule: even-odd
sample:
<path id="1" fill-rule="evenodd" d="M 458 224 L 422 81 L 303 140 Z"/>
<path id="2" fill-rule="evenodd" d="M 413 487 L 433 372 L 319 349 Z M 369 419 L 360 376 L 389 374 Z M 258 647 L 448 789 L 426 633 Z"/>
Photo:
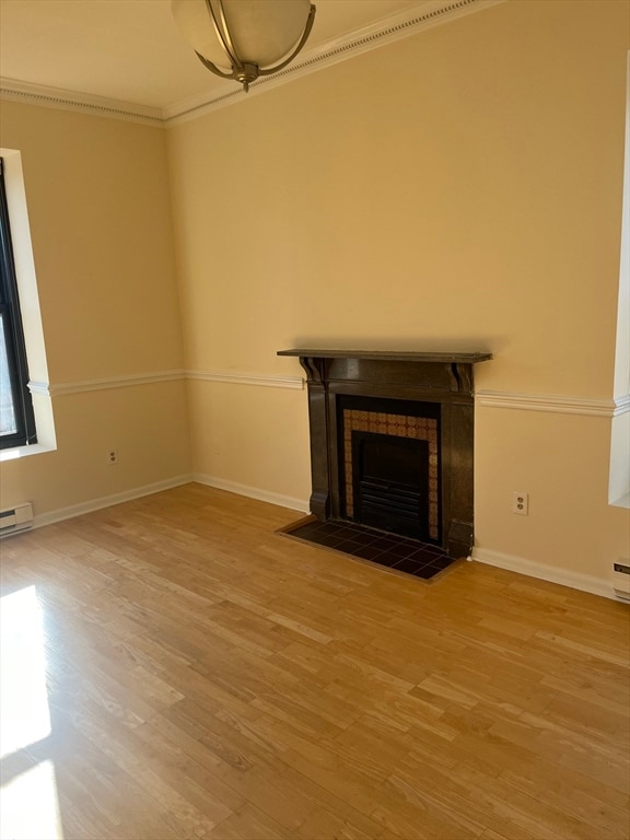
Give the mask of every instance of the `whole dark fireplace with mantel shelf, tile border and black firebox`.
<path id="1" fill-rule="evenodd" d="M 320 522 L 465 557 L 474 542 L 472 366 L 490 353 L 282 350 L 306 371 Z"/>

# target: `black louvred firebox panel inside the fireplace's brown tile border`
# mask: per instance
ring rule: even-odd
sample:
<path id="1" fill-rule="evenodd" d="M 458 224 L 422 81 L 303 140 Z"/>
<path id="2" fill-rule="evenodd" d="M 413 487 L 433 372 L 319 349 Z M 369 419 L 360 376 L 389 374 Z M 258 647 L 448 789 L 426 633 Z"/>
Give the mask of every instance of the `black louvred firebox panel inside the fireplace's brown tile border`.
<path id="1" fill-rule="evenodd" d="M 352 432 L 354 522 L 429 537 L 429 443 L 373 432 Z"/>

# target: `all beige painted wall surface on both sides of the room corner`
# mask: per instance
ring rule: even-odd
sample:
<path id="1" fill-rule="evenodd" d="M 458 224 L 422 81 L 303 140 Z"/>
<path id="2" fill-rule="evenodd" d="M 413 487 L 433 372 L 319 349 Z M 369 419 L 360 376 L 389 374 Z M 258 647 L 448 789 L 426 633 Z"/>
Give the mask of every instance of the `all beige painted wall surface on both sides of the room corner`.
<path id="1" fill-rule="evenodd" d="M 276 351 L 315 345 L 490 350 L 479 389 L 611 398 L 628 32 L 616 0 L 510 0 L 168 132 L 3 103 L 51 384 L 299 376 Z M 305 392 L 52 402 L 58 450 L 3 464 L 2 505 L 45 516 L 189 471 L 308 497 Z M 609 442 L 606 418 L 479 407 L 479 557 L 607 579 L 629 553 Z"/>

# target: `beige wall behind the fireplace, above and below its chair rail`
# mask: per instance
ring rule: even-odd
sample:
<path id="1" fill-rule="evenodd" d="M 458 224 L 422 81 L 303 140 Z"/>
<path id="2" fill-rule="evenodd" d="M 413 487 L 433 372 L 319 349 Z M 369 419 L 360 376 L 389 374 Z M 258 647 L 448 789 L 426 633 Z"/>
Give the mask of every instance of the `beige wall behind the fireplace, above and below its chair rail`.
<path id="1" fill-rule="evenodd" d="M 478 388 L 611 398 L 628 33 L 623 2 L 513 0 L 173 128 L 187 366 L 490 350 Z M 190 393 L 198 472 L 307 498 L 305 394 Z M 607 578 L 629 550 L 609 441 L 598 417 L 481 409 L 480 551 Z"/>

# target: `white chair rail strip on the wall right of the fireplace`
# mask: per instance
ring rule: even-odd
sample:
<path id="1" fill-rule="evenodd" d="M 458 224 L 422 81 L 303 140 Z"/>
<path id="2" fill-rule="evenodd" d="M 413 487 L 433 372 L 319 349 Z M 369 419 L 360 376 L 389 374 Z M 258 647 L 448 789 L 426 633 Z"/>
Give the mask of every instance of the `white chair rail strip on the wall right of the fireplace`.
<path id="1" fill-rule="evenodd" d="M 489 408 L 512 408 L 520 411 L 551 411 L 559 415 L 586 415 L 588 417 L 612 418 L 630 411 L 630 396 L 616 399 L 593 399 L 562 395 L 511 394 L 501 390 L 478 390 L 475 395 L 478 406 Z"/>

